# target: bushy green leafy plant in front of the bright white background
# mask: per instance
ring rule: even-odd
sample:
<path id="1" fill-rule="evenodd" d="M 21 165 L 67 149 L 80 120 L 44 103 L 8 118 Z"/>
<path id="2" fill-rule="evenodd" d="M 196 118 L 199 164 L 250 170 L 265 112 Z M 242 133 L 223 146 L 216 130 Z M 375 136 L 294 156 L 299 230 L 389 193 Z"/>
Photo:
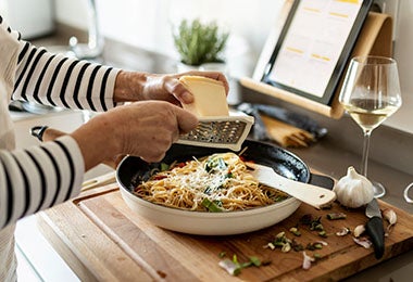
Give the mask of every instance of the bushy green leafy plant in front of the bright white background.
<path id="1" fill-rule="evenodd" d="M 182 63 L 201 65 L 224 62 L 220 55 L 225 49 L 229 34 L 220 31 L 216 23 L 202 24 L 200 20 L 184 20 L 173 36 Z"/>

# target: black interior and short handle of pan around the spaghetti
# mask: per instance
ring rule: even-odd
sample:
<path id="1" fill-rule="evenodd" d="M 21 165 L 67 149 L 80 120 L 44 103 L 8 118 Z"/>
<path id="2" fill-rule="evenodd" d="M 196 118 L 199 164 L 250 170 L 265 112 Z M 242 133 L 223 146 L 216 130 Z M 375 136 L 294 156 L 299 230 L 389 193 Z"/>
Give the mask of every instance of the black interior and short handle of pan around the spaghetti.
<path id="1" fill-rule="evenodd" d="M 318 176 L 310 172 L 309 167 L 298 156 L 274 144 L 246 140 L 242 149 L 248 148 L 243 153 L 248 161 L 270 166 L 279 175 L 315 185 L 331 189 L 334 180 L 329 177 Z M 121 185 L 132 191 L 141 181 L 150 177 L 154 168 L 159 168 L 161 163 L 172 164 L 173 162 L 185 162 L 192 157 L 202 157 L 214 153 L 225 153 L 228 149 L 212 149 L 203 146 L 192 146 L 173 144 L 166 152 L 166 156 L 160 163 L 148 164 L 139 157 L 126 156 L 117 167 L 117 181 Z"/>

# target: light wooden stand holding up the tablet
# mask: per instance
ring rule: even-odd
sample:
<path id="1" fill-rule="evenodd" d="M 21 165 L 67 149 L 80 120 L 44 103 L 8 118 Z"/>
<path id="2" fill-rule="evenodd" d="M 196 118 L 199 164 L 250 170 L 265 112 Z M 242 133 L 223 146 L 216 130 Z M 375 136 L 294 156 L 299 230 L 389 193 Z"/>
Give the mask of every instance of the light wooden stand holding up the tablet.
<path id="1" fill-rule="evenodd" d="M 381 56 L 391 56 L 392 54 L 392 20 L 387 14 L 375 12 L 368 13 L 363 24 L 363 28 L 360 31 L 358 41 L 351 53 L 351 57 L 368 54 Z M 346 66 L 346 69 L 348 65 Z M 276 88 L 258 79 L 249 77 L 242 77 L 240 79 L 240 84 L 243 87 L 252 89 L 256 92 L 275 97 L 286 102 L 297 104 L 306 110 L 338 119 L 343 114 L 343 107 L 338 102 L 338 95 L 340 93 L 345 74 L 346 70 L 343 72 L 343 75 L 341 75 L 339 85 L 329 105 L 318 103 L 311 99 L 286 91 L 284 89 Z"/>

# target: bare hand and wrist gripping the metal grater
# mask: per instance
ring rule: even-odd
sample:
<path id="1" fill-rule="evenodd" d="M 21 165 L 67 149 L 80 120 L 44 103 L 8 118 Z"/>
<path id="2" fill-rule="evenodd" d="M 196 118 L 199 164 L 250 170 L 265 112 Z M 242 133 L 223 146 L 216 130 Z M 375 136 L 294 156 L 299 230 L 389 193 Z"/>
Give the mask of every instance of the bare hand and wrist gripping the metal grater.
<path id="1" fill-rule="evenodd" d="M 100 114 L 71 136 L 77 141 L 88 170 L 126 154 L 159 162 L 180 133 L 189 132 L 197 125 L 198 118 L 178 106 L 146 101 Z"/>

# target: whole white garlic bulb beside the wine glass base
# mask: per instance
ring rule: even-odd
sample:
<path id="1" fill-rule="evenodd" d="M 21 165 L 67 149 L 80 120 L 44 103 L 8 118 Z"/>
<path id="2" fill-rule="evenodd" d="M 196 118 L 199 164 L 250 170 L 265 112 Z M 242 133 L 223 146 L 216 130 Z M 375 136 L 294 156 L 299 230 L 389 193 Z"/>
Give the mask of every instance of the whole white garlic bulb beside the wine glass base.
<path id="1" fill-rule="evenodd" d="M 359 175 L 352 166 L 347 169 L 347 175 L 338 180 L 333 191 L 341 205 L 352 208 L 361 207 L 374 197 L 372 182 Z"/>

